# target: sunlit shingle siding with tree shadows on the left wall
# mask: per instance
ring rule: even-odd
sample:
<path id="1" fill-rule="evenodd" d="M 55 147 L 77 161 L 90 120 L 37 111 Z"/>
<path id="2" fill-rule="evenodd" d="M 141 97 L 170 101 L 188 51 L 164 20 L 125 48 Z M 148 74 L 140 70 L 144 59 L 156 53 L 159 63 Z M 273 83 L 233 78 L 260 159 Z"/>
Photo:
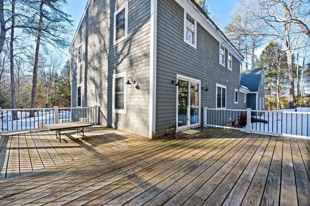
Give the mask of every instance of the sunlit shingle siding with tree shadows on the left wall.
<path id="1" fill-rule="evenodd" d="M 90 0 L 71 47 L 72 106 L 77 106 L 77 85 L 82 87 L 82 106 L 100 107 L 103 122 L 126 132 L 149 135 L 150 96 L 150 1 L 128 0 L 128 36 L 113 44 L 114 11 L 127 0 Z M 77 62 L 82 44 L 83 61 Z M 126 113 L 112 110 L 113 74 L 126 72 L 138 80 L 125 85 Z M 126 82 L 127 79 L 124 79 Z"/>

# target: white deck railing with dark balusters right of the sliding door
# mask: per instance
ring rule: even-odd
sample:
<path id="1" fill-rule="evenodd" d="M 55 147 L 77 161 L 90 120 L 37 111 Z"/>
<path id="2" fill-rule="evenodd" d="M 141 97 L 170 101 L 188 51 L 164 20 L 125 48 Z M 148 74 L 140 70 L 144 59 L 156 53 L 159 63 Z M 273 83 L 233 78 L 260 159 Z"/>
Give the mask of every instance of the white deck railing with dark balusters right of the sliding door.
<path id="1" fill-rule="evenodd" d="M 203 108 L 203 126 L 310 138 L 310 112 Z"/>

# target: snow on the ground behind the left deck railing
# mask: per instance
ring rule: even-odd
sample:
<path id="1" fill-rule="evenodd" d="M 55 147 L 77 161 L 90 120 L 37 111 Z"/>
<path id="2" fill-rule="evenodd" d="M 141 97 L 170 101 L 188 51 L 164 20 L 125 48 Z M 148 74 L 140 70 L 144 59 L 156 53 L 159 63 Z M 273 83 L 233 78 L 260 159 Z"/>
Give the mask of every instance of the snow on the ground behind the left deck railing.
<path id="1" fill-rule="evenodd" d="M 42 122 L 54 123 L 54 110 L 40 110 L 34 113 L 33 118 L 29 118 L 29 115 L 30 112 L 17 111 L 18 120 L 12 121 L 12 111 L 0 111 L 0 132 L 45 127 Z M 68 119 L 71 122 L 71 111 L 59 111 L 59 119 Z"/>

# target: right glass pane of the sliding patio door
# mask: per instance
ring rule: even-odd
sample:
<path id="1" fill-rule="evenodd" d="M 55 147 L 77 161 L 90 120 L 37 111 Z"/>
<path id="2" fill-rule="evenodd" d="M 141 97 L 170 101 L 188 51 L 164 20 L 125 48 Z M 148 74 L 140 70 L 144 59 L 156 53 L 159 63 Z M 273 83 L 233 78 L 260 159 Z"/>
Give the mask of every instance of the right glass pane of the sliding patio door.
<path id="1" fill-rule="evenodd" d="M 199 83 L 190 83 L 190 124 L 199 123 Z"/>

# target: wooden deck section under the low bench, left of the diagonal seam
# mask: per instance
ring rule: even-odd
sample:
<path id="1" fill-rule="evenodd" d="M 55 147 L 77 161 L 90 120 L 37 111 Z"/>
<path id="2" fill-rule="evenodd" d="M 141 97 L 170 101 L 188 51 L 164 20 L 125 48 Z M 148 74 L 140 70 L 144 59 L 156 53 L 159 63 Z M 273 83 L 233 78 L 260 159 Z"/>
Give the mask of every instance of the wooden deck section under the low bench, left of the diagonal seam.
<path id="1" fill-rule="evenodd" d="M 77 134 L 34 132 L 0 137 L 0 179 L 14 177 L 64 162 L 89 157 L 147 141 L 140 136 L 102 126 L 85 128 L 85 138 Z"/>

